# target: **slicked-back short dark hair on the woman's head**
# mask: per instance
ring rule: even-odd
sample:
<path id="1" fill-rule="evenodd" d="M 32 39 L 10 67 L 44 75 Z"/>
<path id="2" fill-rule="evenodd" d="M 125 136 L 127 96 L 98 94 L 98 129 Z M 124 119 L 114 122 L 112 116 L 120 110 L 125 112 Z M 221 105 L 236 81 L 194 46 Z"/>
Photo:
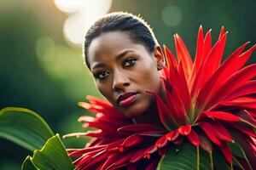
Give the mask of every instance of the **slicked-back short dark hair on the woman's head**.
<path id="1" fill-rule="evenodd" d="M 89 69 L 88 49 L 90 43 L 94 38 L 100 37 L 102 33 L 111 31 L 125 31 L 132 42 L 142 44 L 150 53 L 154 51 L 154 46 L 158 44 L 154 37 L 154 32 L 141 17 L 127 12 L 106 14 L 99 20 L 96 20 L 85 34 L 84 60 Z"/>

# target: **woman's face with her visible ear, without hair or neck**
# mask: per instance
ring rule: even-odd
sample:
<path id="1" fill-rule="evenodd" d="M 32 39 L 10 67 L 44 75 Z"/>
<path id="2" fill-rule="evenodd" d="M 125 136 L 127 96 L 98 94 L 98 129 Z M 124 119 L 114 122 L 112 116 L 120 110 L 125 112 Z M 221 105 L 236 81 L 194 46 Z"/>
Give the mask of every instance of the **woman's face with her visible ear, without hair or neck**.
<path id="1" fill-rule="evenodd" d="M 135 118 L 147 111 L 154 101 L 147 90 L 160 94 L 157 64 L 163 58 L 156 48 L 149 54 L 127 33 L 113 31 L 93 39 L 88 54 L 96 88 L 125 116 Z"/>

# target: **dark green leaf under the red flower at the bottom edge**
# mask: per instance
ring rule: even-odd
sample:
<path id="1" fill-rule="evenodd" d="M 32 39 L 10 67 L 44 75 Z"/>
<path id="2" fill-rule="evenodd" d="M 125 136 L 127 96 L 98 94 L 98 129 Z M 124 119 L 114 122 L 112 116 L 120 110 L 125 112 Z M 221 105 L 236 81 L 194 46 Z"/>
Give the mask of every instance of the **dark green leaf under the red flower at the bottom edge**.
<path id="1" fill-rule="evenodd" d="M 211 169 L 210 156 L 206 151 L 200 150 L 200 169 Z M 196 147 L 189 143 L 183 143 L 180 148 L 174 146 L 168 150 L 158 164 L 158 170 L 195 170 L 197 165 Z"/>

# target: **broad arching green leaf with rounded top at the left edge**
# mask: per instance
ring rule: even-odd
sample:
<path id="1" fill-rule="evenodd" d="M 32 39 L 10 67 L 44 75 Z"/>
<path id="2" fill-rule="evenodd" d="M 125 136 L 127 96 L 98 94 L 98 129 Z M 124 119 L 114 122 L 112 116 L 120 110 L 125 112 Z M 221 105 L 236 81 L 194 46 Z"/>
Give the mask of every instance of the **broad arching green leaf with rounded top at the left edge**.
<path id="1" fill-rule="evenodd" d="M 54 133 L 41 116 L 25 108 L 7 107 L 0 111 L 0 137 L 28 150 L 41 149 Z"/>

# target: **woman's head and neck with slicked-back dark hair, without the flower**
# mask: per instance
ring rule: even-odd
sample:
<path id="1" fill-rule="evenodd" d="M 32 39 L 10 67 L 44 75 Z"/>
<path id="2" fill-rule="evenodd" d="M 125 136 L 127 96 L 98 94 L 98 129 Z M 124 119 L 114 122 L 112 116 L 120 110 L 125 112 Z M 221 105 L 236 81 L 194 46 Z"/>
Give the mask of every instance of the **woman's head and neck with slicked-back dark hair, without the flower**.
<path id="1" fill-rule="evenodd" d="M 87 32 L 85 62 L 96 88 L 126 117 L 160 125 L 152 91 L 164 97 L 161 48 L 153 31 L 131 14 L 113 13 Z"/>

